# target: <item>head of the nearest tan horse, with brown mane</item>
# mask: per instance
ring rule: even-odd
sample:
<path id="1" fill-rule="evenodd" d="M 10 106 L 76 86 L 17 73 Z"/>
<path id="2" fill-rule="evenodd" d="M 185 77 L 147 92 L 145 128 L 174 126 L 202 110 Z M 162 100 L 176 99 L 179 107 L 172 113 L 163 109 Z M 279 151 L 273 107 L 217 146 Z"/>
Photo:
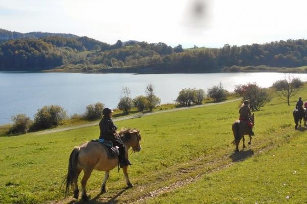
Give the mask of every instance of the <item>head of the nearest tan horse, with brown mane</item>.
<path id="1" fill-rule="evenodd" d="M 122 129 L 119 132 L 121 139 L 124 143 L 132 147 L 133 151 L 140 151 L 141 145 L 140 141 L 142 140 L 139 130 L 136 129 Z"/>

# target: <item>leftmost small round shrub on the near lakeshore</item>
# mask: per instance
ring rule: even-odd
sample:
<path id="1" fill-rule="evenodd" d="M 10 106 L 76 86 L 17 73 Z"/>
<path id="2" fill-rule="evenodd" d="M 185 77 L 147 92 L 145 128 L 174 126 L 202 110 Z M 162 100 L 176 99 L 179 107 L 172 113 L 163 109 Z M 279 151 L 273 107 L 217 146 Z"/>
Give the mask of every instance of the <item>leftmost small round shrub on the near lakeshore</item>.
<path id="1" fill-rule="evenodd" d="M 26 114 L 17 114 L 12 118 L 13 126 L 9 130 L 9 134 L 25 134 L 32 124 L 32 120 Z"/>

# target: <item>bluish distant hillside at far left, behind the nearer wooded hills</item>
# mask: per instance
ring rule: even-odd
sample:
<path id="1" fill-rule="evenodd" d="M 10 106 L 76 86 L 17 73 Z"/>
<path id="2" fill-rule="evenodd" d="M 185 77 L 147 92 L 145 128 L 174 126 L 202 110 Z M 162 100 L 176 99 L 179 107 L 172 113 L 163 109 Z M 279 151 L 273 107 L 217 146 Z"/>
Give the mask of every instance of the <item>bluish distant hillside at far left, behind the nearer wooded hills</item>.
<path id="1" fill-rule="evenodd" d="M 12 32 L 4 29 L 0 29 L 0 41 L 11 40 L 11 39 L 38 39 L 49 36 L 57 37 L 67 37 L 67 38 L 76 38 L 77 35 L 74 34 L 65 34 L 65 33 L 45 33 L 45 32 L 30 32 L 30 33 L 19 33 Z"/>

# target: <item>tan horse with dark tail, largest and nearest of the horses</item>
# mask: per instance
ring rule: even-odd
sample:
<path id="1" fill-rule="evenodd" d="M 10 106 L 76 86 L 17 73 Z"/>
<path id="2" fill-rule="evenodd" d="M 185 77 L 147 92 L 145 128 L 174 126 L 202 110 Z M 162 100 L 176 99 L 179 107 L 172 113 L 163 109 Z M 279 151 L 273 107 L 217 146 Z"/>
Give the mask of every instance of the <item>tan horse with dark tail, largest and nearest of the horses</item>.
<path id="1" fill-rule="evenodd" d="M 133 151 L 140 151 L 141 135 L 140 131 L 136 129 L 123 129 L 119 132 L 125 149 L 126 157 L 128 157 L 128 149 L 132 147 Z M 89 180 L 92 171 L 105 171 L 104 181 L 101 186 L 101 192 L 106 192 L 105 183 L 109 176 L 109 171 L 114 169 L 118 165 L 118 158 L 108 158 L 106 147 L 98 142 L 85 142 L 81 146 L 77 146 L 73 149 L 68 165 L 68 173 L 63 183 L 65 183 L 65 197 L 69 193 L 70 187 L 74 187 L 74 198 L 78 199 L 78 177 L 83 170 L 84 175 L 81 180 L 82 186 L 82 200 L 88 200 L 86 195 L 86 182 Z M 128 178 L 127 167 L 123 167 L 123 172 L 128 187 L 133 187 Z"/>

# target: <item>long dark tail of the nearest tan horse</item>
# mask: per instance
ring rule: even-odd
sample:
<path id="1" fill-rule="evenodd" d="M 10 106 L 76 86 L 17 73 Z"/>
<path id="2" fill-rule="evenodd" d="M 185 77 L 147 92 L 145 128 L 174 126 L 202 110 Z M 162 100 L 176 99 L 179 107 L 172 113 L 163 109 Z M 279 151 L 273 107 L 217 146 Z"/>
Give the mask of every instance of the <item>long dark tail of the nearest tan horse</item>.
<path id="1" fill-rule="evenodd" d="M 62 184 L 65 185 L 65 197 L 68 196 L 70 187 L 73 187 L 74 180 L 77 176 L 78 153 L 80 147 L 75 147 L 71 152 L 68 163 L 68 172 Z"/>

